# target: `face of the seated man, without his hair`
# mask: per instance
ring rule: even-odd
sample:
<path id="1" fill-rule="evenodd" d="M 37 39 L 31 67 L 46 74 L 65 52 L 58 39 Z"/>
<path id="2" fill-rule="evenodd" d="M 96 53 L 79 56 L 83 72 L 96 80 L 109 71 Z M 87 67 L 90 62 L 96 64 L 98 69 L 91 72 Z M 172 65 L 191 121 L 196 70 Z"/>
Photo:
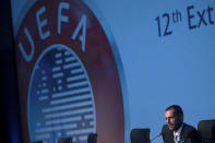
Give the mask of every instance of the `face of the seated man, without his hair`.
<path id="1" fill-rule="evenodd" d="M 169 130 L 177 131 L 182 123 L 180 117 L 175 115 L 174 109 L 167 110 L 165 112 L 165 118 Z"/>

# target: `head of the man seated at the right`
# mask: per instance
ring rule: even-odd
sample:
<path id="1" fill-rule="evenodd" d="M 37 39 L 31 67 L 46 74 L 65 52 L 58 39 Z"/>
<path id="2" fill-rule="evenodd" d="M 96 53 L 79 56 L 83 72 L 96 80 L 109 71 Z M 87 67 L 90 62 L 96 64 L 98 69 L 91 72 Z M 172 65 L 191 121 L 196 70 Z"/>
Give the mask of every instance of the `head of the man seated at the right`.
<path id="1" fill-rule="evenodd" d="M 183 122 L 183 110 L 178 105 L 171 105 L 166 108 L 165 118 L 169 130 L 177 131 Z"/>

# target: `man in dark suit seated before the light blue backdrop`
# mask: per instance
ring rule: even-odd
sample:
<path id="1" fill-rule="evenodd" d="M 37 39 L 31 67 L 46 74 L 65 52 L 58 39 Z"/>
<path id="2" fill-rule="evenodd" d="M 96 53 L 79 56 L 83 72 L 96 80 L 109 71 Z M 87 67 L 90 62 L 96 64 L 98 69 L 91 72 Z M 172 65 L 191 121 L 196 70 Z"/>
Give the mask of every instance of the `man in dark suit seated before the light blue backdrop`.
<path id="1" fill-rule="evenodd" d="M 201 143 L 198 131 L 183 122 L 183 110 L 178 105 L 167 107 L 167 124 L 162 129 L 164 143 Z"/>

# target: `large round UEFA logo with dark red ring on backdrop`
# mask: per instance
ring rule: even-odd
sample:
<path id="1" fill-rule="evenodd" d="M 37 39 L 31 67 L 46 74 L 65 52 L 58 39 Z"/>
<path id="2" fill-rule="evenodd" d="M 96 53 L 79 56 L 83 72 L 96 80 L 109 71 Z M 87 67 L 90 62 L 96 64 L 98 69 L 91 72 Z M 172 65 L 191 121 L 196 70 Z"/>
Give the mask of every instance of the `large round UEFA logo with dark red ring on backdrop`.
<path id="1" fill-rule="evenodd" d="M 26 3 L 15 29 L 25 143 L 123 143 L 128 129 L 120 57 L 89 1 Z"/>

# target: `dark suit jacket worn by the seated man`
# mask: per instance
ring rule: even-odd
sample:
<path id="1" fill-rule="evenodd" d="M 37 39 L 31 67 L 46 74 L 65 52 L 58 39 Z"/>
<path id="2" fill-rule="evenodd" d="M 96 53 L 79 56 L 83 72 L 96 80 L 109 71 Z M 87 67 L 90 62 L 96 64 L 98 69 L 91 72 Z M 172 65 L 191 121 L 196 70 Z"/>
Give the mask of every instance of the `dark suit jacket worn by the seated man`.
<path id="1" fill-rule="evenodd" d="M 189 124 L 183 123 L 180 135 L 183 138 L 184 143 L 201 143 L 198 131 Z M 170 131 L 167 124 L 165 124 L 162 129 L 162 136 L 164 143 L 175 143 L 174 131 Z"/>

